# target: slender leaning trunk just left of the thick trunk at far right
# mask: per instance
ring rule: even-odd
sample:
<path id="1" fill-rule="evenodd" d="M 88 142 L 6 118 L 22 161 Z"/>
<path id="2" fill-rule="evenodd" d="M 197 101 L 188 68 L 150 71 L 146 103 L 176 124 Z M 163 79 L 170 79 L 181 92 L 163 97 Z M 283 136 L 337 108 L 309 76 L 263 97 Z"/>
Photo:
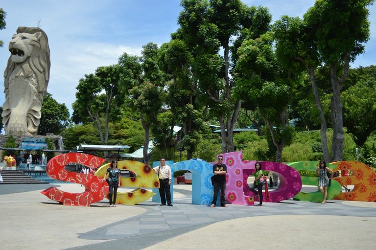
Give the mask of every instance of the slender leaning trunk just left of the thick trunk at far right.
<path id="1" fill-rule="evenodd" d="M 321 147 L 323 149 L 323 155 L 324 155 L 325 161 L 330 162 L 329 151 L 328 151 L 328 139 L 327 139 L 327 121 L 325 119 L 325 112 L 321 106 L 319 91 L 317 90 L 315 70 L 313 67 L 307 67 L 307 69 L 308 69 L 309 78 L 312 84 L 312 91 L 315 96 L 316 106 L 317 106 L 317 109 L 320 111 Z"/>

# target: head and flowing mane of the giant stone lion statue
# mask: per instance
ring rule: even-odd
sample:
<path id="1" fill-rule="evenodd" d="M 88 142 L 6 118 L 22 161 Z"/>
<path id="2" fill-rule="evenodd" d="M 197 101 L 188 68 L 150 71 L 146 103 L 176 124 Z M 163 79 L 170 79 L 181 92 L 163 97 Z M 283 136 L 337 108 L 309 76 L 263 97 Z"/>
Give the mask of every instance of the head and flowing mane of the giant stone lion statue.
<path id="1" fill-rule="evenodd" d="M 44 95 L 49 80 L 49 47 L 46 33 L 40 28 L 19 27 L 17 34 L 9 42 L 11 56 L 4 72 L 5 91 L 9 86 L 9 78 L 19 65 L 24 77 L 35 75 L 38 83 L 37 91 Z M 4 92 L 5 92 L 4 91 Z"/>

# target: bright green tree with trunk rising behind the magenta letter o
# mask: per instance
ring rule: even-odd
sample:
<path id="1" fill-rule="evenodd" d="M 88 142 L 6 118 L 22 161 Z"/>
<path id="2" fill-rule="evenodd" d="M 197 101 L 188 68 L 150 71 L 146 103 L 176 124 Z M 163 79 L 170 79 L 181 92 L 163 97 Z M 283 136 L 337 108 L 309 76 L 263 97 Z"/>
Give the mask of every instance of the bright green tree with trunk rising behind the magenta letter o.
<path id="1" fill-rule="evenodd" d="M 288 126 L 287 120 L 287 105 L 299 75 L 278 63 L 273 41 L 272 32 L 255 40 L 244 40 L 237 51 L 239 59 L 235 78 L 238 94 L 257 104 L 276 147 L 275 160 L 280 162 L 283 147 L 292 138 L 292 128 Z"/>

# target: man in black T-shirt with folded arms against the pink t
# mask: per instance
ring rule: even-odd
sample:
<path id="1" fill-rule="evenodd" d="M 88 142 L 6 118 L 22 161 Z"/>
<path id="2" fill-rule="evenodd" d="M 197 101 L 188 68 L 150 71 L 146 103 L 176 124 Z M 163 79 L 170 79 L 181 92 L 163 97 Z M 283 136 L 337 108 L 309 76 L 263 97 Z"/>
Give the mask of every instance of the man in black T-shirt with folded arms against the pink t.
<path id="1" fill-rule="evenodd" d="M 214 185 L 214 195 L 213 201 L 211 202 L 210 207 L 214 207 L 217 203 L 218 191 L 220 189 L 221 195 L 221 206 L 228 207 L 225 199 L 225 191 L 226 191 L 226 173 L 227 173 L 227 166 L 223 164 L 223 156 L 218 156 L 217 163 L 213 165 L 213 185 Z"/>

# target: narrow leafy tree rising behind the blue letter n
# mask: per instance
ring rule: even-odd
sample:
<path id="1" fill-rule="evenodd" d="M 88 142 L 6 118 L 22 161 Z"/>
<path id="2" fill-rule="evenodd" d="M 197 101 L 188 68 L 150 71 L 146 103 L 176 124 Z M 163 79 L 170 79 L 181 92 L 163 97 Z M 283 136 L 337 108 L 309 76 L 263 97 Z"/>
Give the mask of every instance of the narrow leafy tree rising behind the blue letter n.
<path id="1" fill-rule="evenodd" d="M 168 85 L 166 103 L 173 114 L 171 127 L 175 121 L 183 124 L 183 147 L 187 150 L 187 159 L 192 158 L 198 140 L 205 110 L 203 103 L 198 101 L 201 96 L 197 90 L 197 79 L 194 77 L 194 58 L 188 45 L 180 39 L 172 39 L 161 46 L 160 65 L 164 72 L 171 75 Z M 203 111 L 204 110 L 204 111 Z M 178 136 L 173 136 L 170 129 L 168 141 L 176 146 Z"/>

